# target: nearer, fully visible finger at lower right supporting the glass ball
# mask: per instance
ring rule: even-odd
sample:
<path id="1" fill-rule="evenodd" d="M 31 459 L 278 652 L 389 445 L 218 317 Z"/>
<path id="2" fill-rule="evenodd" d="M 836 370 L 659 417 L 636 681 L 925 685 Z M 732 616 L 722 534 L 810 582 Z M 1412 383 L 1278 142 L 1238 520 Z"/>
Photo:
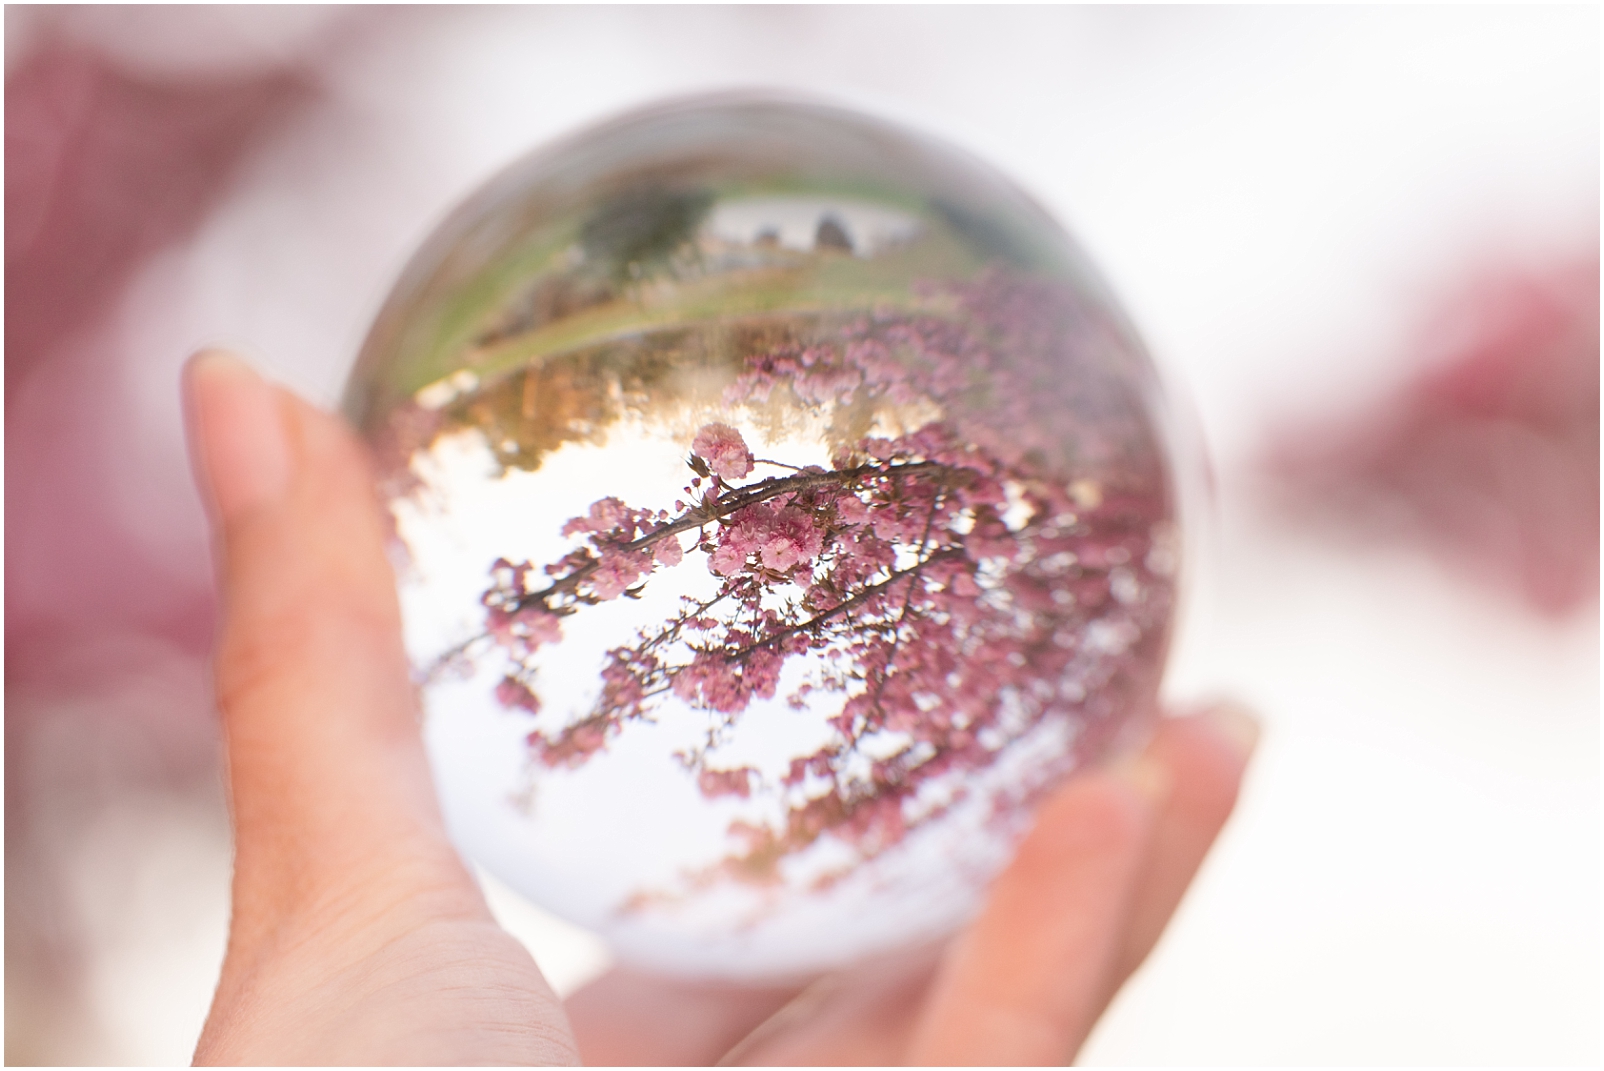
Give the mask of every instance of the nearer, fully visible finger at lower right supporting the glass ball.
<path id="1" fill-rule="evenodd" d="M 1079 1047 L 1120 960 L 1166 792 L 1163 768 L 1140 757 L 1047 800 L 942 965 L 909 1063 L 1062 1063 Z"/>

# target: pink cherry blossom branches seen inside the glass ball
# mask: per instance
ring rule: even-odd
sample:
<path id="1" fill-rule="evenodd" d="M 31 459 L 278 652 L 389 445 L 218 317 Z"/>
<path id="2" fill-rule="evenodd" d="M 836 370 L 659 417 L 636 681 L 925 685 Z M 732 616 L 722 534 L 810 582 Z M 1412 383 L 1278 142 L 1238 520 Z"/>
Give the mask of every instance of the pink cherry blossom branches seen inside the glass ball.
<path id="1" fill-rule="evenodd" d="M 1115 329 L 1062 287 L 1004 273 L 932 290 L 943 300 L 956 313 L 863 317 L 752 353 L 725 391 L 731 409 L 788 391 L 800 407 L 935 418 L 844 439 L 829 468 L 768 462 L 789 471 L 764 478 L 735 426 L 707 423 L 672 511 L 602 499 L 563 527 L 579 545 L 560 561 L 492 571 L 488 635 L 512 667 L 497 697 L 536 712 L 534 656 L 565 617 L 704 560 L 714 593 L 610 651 L 595 705 L 529 744 L 544 765 L 579 766 L 670 696 L 706 712 L 704 744 L 680 755 L 699 790 L 765 794 L 784 814 L 736 822 L 743 847 L 720 874 L 772 880 L 826 834 L 885 850 L 942 813 L 919 806 L 932 779 L 1051 718 L 1096 747 L 1156 686 L 1169 580 L 1153 534 L 1169 497 L 1142 386 L 1110 358 Z M 828 712 L 832 739 L 778 781 L 720 768 L 719 744 L 781 697 L 791 664 L 800 683 L 783 701 Z"/>

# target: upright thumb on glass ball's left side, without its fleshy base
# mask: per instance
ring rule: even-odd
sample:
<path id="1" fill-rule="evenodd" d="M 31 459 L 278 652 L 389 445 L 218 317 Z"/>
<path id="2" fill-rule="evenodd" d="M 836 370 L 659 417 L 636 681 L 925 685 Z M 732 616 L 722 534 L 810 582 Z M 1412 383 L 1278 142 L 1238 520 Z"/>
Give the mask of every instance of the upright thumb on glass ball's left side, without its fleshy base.
<path id="1" fill-rule="evenodd" d="M 484 911 L 435 803 L 361 446 L 228 354 L 189 364 L 186 398 L 223 601 L 234 941 L 342 893 Z"/>

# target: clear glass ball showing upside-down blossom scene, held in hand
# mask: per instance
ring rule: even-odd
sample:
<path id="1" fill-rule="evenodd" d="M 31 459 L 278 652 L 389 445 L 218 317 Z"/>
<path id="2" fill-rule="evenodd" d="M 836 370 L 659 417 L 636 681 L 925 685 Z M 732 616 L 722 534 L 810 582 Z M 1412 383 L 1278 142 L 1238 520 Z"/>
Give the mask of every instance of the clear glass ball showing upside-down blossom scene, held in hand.
<path id="1" fill-rule="evenodd" d="M 452 837 L 654 970 L 953 930 L 1152 715 L 1160 410 L 1075 244 L 953 148 L 717 96 L 515 164 L 346 393 Z"/>

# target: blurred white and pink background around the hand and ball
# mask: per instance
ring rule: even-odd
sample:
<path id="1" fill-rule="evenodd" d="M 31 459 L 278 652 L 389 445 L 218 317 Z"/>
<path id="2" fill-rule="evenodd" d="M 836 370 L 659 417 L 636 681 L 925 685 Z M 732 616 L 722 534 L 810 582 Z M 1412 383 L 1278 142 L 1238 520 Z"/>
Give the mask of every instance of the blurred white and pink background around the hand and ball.
<path id="1" fill-rule="evenodd" d="M 1088 1063 L 1599 1058 L 1591 8 L 6 8 L 6 1060 L 188 1061 L 226 933 L 176 374 L 334 404 L 557 135 L 805 90 L 993 162 L 1209 446 L 1177 701 L 1266 738 Z M 492 890 L 553 983 L 587 935 Z"/>

